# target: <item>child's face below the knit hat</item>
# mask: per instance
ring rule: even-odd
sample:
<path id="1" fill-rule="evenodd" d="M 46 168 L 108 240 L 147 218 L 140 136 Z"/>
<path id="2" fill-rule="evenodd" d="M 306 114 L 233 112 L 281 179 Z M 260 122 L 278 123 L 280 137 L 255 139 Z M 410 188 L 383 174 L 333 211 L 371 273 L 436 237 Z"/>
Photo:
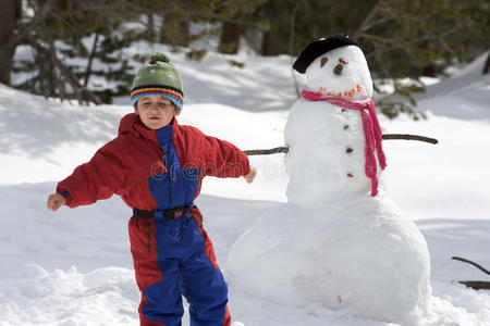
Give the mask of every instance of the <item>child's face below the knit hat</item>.
<path id="1" fill-rule="evenodd" d="M 138 99 L 134 112 L 139 115 L 147 128 L 154 130 L 168 126 L 177 114 L 175 105 L 169 98 L 156 95 Z"/>

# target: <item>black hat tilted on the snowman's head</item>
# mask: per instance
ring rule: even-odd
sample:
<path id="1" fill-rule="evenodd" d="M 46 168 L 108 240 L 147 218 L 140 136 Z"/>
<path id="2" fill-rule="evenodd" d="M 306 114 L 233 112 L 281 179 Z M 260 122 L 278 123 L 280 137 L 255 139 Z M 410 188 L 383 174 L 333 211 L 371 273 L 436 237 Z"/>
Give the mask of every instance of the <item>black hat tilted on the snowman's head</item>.
<path id="1" fill-rule="evenodd" d="M 302 51 L 299 57 L 293 64 L 293 68 L 304 74 L 308 65 L 318 57 L 328 51 L 331 51 L 336 48 L 346 47 L 346 46 L 356 46 L 359 47 L 356 40 L 352 39 L 346 34 L 338 34 L 331 35 L 326 38 L 317 39 L 310 42 L 306 48 Z"/>

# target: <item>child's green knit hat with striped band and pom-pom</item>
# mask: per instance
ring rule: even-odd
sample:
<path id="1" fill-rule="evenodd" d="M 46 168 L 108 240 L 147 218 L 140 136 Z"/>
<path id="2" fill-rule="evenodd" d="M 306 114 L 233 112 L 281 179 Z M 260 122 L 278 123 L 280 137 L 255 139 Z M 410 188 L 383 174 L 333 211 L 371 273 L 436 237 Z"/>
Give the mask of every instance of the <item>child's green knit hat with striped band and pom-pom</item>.
<path id="1" fill-rule="evenodd" d="M 169 98 L 182 109 L 184 104 L 182 88 L 181 74 L 176 67 L 170 62 L 169 57 L 157 52 L 149 57 L 134 76 L 131 103 L 134 106 L 144 96 L 159 95 Z"/>

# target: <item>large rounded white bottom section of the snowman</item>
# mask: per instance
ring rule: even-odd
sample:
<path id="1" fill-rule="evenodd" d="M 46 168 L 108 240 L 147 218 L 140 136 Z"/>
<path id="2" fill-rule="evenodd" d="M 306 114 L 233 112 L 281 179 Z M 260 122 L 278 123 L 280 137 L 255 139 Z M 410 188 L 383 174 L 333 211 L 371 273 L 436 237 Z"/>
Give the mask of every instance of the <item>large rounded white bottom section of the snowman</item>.
<path id="1" fill-rule="evenodd" d="M 431 288 L 427 243 L 389 198 L 268 212 L 233 247 L 232 286 L 275 302 L 311 302 L 416 325 Z"/>

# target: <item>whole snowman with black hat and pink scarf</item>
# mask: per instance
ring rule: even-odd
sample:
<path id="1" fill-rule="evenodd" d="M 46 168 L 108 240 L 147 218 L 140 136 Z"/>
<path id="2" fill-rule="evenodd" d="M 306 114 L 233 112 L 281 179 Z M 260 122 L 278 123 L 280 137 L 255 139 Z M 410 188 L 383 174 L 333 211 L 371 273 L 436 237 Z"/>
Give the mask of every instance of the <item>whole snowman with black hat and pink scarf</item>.
<path id="1" fill-rule="evenodd" d="M 306 89 L 284 130 L 287 203 L 233 246 L 232 288 L 418 325 L 431 296 L 427 243 L 382 185 L 385 156 L 372 80 L 355 40 L 308 45 L 293 67 Z"/>

